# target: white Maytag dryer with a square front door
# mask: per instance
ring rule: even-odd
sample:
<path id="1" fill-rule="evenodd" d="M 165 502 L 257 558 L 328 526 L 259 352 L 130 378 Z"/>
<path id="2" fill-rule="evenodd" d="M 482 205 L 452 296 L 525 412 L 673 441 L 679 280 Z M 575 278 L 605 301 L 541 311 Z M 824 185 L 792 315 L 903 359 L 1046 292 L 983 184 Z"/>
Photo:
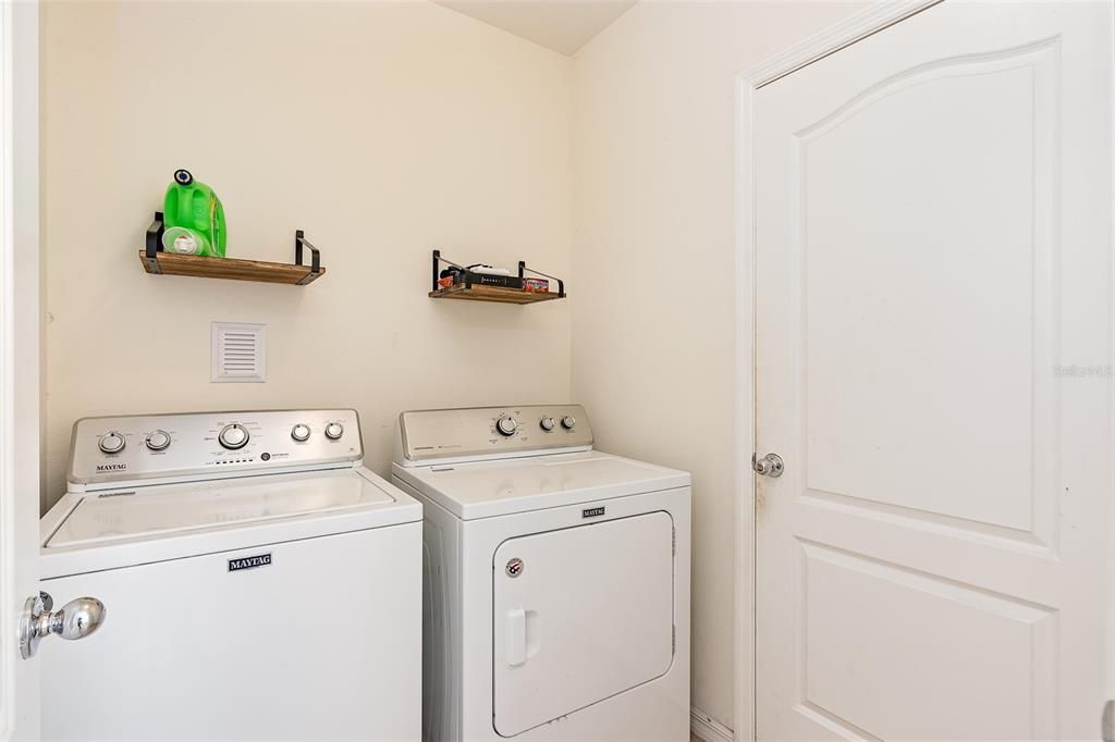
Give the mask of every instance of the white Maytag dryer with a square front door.
<path id="1" fill-rule="evenodd" d="M 689 473 L 579 406 L 399 416 L 425 527 L 423 739 L 689 739 Z"/>

